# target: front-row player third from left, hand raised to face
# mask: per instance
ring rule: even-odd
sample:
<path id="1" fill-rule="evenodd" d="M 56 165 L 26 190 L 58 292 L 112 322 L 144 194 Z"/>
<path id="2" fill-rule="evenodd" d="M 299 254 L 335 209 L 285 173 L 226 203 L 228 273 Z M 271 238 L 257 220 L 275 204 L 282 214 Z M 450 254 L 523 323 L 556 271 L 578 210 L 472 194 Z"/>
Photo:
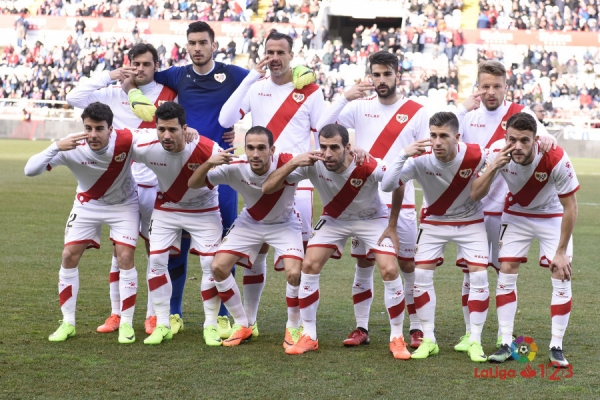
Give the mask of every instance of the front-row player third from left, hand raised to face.
<path id="1" fill-rule="evenodd" d="M 223 238 L 212 265 L 219 296 L 235 320 L 234 332 L 223 341 L 223 345 L 236 346 L 249 338 L 255 329 L 256 322 L 252 324 L 250 321 L 256 321 L 265 275 L 262 270 L 256 270 L 253 260 L 266 243 L 275 248 L 275 269 L 286 271 L 288 320 L 283 347 L 287 349 L 300 338 L 298 285 L 304 251 L 302 225 L 294 210 L 296 185 L 263 194 L 262 183 L 292 155 L 274 154 L 273 134 L 262 126 L 246 132 L 245 151 L 246 154 L 235 161 L 235 156 L 228 151 L 209 158 L 194 172 L 188 184 L 192 188 L 208 186 L 212 189 L 215 185 L 229 183 L 244 197 L 245 208 Z M 209 172 L 213 167 L 216 168 Z M 231 276 L 231 269 L 236 263 L 246 268 L 243 307 L 239 289 Z M 204 340 L 211 346 L 221 345 L 216 330 L 205 329 Z"/>

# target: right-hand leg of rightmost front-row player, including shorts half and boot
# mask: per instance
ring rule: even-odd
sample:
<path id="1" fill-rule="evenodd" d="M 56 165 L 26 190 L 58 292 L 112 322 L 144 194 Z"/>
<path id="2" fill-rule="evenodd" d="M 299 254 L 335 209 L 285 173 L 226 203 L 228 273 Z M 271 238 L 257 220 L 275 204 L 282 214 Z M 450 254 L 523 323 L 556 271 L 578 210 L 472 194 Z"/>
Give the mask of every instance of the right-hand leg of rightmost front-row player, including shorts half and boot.
<path id="1" fill-rule="evenodd" d="M 562 218 L 539 218 L 535 220 L 535 231 L 540 240 L 540 265 L 550 266 L 552 258 L 556 254 L 560 240 L 560 227 Z M 567 246 L 567 256 L 573 259 L 573 238 Z M 565 279 L 559 274 L 558 269 L 551 270 L 552 273 L 552 299 L 550 301 L 550 317 L 552 320 L 552 338 L 550 339 L 550 362 L 555 367 L 566 368 L 569 362 L 563 354 L 563 337 L 572 308 L 571 280 Z"/>

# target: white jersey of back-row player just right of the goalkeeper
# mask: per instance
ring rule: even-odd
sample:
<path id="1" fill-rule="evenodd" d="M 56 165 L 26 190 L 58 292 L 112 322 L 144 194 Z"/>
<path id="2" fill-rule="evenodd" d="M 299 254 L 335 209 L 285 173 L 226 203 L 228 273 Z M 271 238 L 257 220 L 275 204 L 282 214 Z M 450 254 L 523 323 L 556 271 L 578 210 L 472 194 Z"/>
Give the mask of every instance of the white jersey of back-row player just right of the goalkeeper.
<path id="1" fill-rule="evenodd" d="M 311 83 L 302 89 L 294 89 L 292 82 L 276 85 L 251 70 L 223 105 L 219 124 L 233 126 L 252 112 L 252 126 L 269 129 L 278 152 L 305 153 L 310 150 L 311 134 L 317 132 L 323 109 L 323 92 L 318 85 Z"/>

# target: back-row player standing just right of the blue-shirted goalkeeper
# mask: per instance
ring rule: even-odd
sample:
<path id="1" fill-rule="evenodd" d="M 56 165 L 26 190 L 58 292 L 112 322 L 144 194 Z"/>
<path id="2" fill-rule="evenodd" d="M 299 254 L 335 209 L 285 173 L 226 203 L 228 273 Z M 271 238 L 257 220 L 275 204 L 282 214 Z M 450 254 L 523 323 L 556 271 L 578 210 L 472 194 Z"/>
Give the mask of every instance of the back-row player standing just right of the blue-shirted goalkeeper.
<path id="1" fill-rule="evenodd" d="M 233 126 L 251 112 L 253 126 L 264 126 L 273 133 L 278 152 L 304 153 L 311 148 L 311 136 L 316 133 L 324 100 L 323 92 L 315 83 L 301 89 L 294 87 L 294 74 L 290 67 L 294 58 L 292 46 L 293 40 L 288 35 L 274 31 L 267 36 L 265 57 L 223 105 L 219 123 L 222 126 Z M 267 78 L 265 68 L 271 72 Z M 302 219 L 302 241 L 305 245 L 312 225 L 312 191 L 308 180 L 300 182 L 296 190 L 294 207 Z M 256 269 L 256 273 L 266 273 L 267 252 L 268 247 L 263 247 L 254 261 L 253 269 Z M 249 271 L 245 270 L 245 273 Z M 262 291 L 263 288 L 264 283 L 257 290 Z M 255 322 L 251 320 L 250 324 Z"/>

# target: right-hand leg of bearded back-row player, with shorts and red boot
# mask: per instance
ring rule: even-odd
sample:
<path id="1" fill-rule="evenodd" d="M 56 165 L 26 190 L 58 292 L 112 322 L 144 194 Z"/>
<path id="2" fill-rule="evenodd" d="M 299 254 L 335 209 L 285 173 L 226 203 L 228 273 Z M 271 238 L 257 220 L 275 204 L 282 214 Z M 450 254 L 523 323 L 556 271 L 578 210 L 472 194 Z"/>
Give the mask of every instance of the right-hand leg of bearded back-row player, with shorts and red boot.
<path id="1" fill-rule="evenodd" d="M 410 347 L 417 348 L 423 340 L 423 327 L 417 317 L 414 304 L 415 244 L 417 242 L 417 220 L 414 208 L 402 208 L 398 218 L 398 265 L 404 280 L 404 296 L 410 320 Z"/>

